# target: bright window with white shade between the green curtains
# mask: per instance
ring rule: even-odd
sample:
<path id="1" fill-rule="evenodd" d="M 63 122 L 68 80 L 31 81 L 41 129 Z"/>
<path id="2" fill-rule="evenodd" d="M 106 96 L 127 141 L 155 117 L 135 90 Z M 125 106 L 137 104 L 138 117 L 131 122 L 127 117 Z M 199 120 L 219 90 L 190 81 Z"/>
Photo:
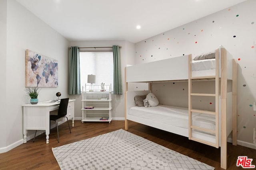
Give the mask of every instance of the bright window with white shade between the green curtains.
<path id="1" fill-rule="evenodd" d="M 87 83 L 87 75 L 96 75 L 95 84 L 112 85 L 114 82 L 113 52 L 80 52 L 80 82 L 82 86 Z"/>

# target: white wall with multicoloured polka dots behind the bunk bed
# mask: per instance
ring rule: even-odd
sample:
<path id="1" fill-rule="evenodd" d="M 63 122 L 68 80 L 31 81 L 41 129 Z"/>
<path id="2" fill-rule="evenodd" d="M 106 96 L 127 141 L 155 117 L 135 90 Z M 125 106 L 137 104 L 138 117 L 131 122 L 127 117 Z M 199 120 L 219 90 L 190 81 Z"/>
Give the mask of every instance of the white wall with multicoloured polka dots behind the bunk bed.
<path id="1" fill-rule="evenodd" d="M 195 57 L 223 45 L 238 61 L 238 144 L 252 148 L 256 128 L 255 6 L 255 0 L 248 0 L 135 44 L 136 64 L 190 53 Z"/>

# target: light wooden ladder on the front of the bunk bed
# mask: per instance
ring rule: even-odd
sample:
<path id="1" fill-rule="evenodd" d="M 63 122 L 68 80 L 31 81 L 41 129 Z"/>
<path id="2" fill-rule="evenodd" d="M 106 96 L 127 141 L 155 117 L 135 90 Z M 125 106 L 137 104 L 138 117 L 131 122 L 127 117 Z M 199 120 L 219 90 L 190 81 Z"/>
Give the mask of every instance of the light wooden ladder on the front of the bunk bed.
<path id="1" fill-rule="evenodd" d="M 197 141 L 200 143 L 204 143 L 206 145 L 210 145 L 212 147 L 219 147 L 219 51 L 218 49 L 215 50 L 215 58 L 216 58 L 216 72 L 215 76 L 200 76 L 200 77 L 192 77 L 192 55 L 189 55 L 188 59 L 188 138 L 193 141 Z M 206 93 L 192 93 L 192 82 L 193 80 L 203 80 L 203 79 L 212 79 L 215 80 L 215 94 L 206 94 Z M 192 107 L 192 96 L 211 96 L 215 97 L 215 111 L 208 111 L 208 110 L 201 110 L 201 109 L 193 109 Z M 192 124 L 192 112 L 196 113 L 203 113 L 203 114 L 210 114 L 215 115 L 215 130 L 205 129 L 202 127 L 198 127 Z M 206 133 L 215 134 L 215 143 L 198 139 L 193 137 L 193 131 L 201 131 Z"/>

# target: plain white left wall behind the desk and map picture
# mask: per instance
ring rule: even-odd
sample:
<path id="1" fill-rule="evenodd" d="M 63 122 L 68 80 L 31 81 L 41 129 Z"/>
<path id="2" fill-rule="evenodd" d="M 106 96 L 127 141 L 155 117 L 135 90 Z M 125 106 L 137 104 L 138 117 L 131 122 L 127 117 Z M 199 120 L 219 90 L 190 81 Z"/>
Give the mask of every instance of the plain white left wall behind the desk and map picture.
<path id="1" fill-rule="evenodd" d="M 6 39 L 6 54 L 3 54 L 0 61 L 6 63 L 1 66 L 1 96 L 4 98 L 6 92 L 6 107 L 1 107 L 2 129 L 6 135 L 1 135 L 0 152 L 5 152 L 23 143 L 23 118 L 22 104 L 28 103 L 25 89 L 25 51 L 30 49 L 42 55 L 58 60 L 57 88 L 42 88 L 38 96 L 39 101 L 57 98 L 56 92 L 61 92 L 61 97 L 68 96 L 68 41 L 62 35 L 54 31 L 42 20 L 21 6 L 16 0 L 0 1 L 1 30 L 4 29 L 2 13 L 7 11 L 6 28 L 3 37 Z M 4 6 L 4 3 L 7 2 Z M 3 4 L 3 6 L 2 6 Z M 4 16 L 4 15 L 3 15 Z M 0 43 L 2 42 L 2 38 Z M 4 51 L 4 50 L 3 50 Z M 1 50 L 2 52 L 2 50 Z M 2 56 L 2 54 L 1 54 Z M 3 78 L 3 79 L 2 79 Z M 6 79 L 6 81 L 4 81 Z M 2 102 L 1 102 L 2 103 Z M 5 109 L 6 108 L 6 109 Z M 6 123 L 5 123 L 6 122 Z M 28 135 L 33 135 L 29 131 Z M 26 145 L 26 144 L 24 144 Z"/>

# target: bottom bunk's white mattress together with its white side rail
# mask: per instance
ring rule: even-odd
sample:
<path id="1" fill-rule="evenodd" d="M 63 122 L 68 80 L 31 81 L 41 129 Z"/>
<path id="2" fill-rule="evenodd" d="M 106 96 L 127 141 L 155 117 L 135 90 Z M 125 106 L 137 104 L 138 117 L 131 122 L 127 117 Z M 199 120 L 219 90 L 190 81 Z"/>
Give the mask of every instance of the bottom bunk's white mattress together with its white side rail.
<path id="1" fill-rule="evenodd" d="M 139 121 L 136 122 L 188 137 L 188 108 L 165 105 L 156 107 L 134 106 L 129 109 L 127 118 L 132 121 L 138 119 Z M 146 123 L 140 120 L 146 120 L 143 121 Z M 151 125 L 152 122 L 154 125 Z M 192 125 L 215 131 L 215 116 L 192 112 Z M 173 129 L 175 130 L 173 131 Z M 192 136 L 215 143 L 215 134 L 193 130 Z"/>

